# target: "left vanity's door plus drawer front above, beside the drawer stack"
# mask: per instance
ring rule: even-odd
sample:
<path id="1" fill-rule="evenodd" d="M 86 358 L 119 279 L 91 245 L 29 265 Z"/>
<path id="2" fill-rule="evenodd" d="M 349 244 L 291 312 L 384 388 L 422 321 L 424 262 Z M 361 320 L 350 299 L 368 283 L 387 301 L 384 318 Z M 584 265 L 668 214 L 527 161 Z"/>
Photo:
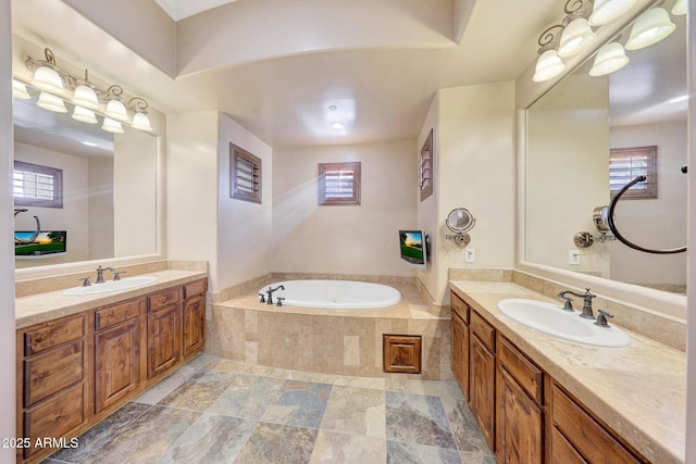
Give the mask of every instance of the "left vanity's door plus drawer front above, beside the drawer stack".
<path id="1" fill-rule="evenodd" d="M 95 413 L 127 397 L 140 386 L 139 298 L 95 312 Z"/>

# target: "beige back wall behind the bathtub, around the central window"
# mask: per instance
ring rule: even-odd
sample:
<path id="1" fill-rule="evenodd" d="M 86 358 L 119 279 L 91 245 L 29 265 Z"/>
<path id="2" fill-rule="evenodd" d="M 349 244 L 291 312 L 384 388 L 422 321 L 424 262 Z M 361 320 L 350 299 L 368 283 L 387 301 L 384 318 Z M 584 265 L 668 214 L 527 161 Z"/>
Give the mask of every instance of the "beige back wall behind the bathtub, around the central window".
<path id="1" fill-rule="evenodd" d="M 276 149 L 273 271 L 411 276 L 399 229 L 417 225 L 413 140 Z M 319 206 L 318 163 L 360 161 L 360 205 Z"/>

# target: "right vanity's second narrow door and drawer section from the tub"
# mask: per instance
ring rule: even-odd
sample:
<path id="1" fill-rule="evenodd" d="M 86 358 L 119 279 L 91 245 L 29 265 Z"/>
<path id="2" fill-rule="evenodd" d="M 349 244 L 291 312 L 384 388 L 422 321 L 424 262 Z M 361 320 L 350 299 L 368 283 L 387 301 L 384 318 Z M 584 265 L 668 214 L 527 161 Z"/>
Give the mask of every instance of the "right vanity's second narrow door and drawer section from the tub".
<path id="1" fill-rule="evenodd" d="M 471 311 L 470 329 L 469 404 L 490 451 L 495 451 L 495 330 L 475 311 Z"/>

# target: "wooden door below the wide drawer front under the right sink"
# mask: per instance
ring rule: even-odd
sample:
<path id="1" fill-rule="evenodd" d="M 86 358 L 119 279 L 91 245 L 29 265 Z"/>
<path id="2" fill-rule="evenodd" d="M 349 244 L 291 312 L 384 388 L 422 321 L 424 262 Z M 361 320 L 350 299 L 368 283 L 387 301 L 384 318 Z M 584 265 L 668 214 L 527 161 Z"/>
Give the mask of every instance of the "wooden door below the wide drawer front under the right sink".
<path id="1" fill-rule="evenodd" d="M 497 459 L 507 464 L 542 464 L 544 423 L 542 410 L 526 396 L 512 376 L 498 367 L 496 379 Z"/>

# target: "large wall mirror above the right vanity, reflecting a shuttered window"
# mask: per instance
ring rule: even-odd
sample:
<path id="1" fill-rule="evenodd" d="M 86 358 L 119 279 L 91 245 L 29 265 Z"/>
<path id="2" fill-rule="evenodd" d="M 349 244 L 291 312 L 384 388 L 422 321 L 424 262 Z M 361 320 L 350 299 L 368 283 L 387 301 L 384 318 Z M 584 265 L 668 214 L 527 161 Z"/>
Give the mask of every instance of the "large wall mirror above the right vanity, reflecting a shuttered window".
<path id="1" fill-rule="evenodd" d="M 664 2 L 668 11 L 673 1 Z M 630 63 L 593 77 L 591 58 L 555 85 L 526 112 L 525 259 L 531 263 L 614 281 L 684 293 L 686 253 L 652 254 L 602 237 L 593 220 L 607 205 L 612 172 L 624 168 L 625 149 L 656 154 L 657 191 L 626 198 L 616 223 L 632 242 L 650 249 L 686 244 L 687 85 L 686 15 L 671 14 L 676 26 L 666 39 L 626 52 Z M 625 43 L 626 27 L 612 40 Z M 646 149 L 647 148 L 647 149 Z M 625 158 L 624 158 L 625 161 Z M 638 161 L 634 160 L 635 163 Z M 637 165 L 637 164 L 636 164 Z M 612 175 L 613 184 L 626 184 Z M 589 233 L 594 244 L 575 242 Z"/>

